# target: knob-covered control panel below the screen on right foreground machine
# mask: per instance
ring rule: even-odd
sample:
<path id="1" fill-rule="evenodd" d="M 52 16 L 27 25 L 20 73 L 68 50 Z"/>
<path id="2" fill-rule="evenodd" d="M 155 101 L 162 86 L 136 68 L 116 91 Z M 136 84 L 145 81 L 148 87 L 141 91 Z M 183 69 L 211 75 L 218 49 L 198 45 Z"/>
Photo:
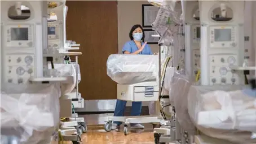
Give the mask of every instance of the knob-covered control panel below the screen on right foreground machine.
<path id="1" fill-rule="evenodd" d="M 229 84 L 239 85 L 240 77 L 238 71 L 233 71 L 230 66 L 237 66 L 237 55 L 210 55 L 209 73 L 210 85 Z"/>

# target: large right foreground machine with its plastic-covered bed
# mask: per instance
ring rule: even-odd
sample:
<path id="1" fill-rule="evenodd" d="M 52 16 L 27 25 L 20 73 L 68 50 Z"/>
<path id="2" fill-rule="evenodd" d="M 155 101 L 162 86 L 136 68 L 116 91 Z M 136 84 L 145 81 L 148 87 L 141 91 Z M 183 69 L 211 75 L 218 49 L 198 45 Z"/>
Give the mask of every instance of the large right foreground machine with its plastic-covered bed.
<path id="1" fill-rule="evenodd" d="M 204 134 L 254 143 L 255 99 L 242 91 L 244 73 L 235 69 L 244 62 L 245 1 L 199 3 L 202 86 L 192 85 L 188 91 L 188 114 L 198 129 L 196 143 L 213 142 L 206 141 Z"/>

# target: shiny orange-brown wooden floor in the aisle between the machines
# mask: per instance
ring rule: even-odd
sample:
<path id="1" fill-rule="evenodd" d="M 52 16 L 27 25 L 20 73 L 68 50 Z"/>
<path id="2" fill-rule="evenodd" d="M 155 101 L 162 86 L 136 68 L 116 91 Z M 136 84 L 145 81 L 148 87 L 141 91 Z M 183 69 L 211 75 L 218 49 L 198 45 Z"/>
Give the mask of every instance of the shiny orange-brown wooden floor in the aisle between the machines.
<path id="1" fill-rule="evenodd" d="M 104 126 L 88 126 L 88 132 L 82 135 L 82 144 L 153 144 L 152 124 L 143 124 L 143 130 L 133 131 L 125 136 L 123 127 L 121 132 L 105 132 Z"/>

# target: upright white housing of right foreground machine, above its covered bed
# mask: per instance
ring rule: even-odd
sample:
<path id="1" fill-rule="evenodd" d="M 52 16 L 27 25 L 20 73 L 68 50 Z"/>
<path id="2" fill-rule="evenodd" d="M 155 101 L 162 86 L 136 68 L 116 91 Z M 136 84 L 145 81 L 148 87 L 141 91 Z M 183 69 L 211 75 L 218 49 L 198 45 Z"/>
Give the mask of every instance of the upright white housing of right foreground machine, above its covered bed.
<path id="1" fill-rule="evenodd" d="M 232 9 L 232 20 L 214 21 L 211 18 L 213 10 L 221 3 Z M 199 1 L 199 4 L 201 84 L 244 84 L 242 71 L 229 68 L 242 66 L 244 62 L 244 1 Z"/>

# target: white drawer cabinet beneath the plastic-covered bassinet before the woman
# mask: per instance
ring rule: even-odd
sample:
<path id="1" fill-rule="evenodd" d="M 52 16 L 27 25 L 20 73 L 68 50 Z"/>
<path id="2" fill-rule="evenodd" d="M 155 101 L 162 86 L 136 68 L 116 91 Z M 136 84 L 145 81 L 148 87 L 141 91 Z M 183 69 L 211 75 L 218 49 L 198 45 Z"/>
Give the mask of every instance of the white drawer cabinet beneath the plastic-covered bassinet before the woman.
<path id="1" fill-rule="evenodd" d="M 140 82 L 132 85 L 117 84 L 117 99 L 126 101 L 157 101 L 158 85 L 156 81 Z"/>

